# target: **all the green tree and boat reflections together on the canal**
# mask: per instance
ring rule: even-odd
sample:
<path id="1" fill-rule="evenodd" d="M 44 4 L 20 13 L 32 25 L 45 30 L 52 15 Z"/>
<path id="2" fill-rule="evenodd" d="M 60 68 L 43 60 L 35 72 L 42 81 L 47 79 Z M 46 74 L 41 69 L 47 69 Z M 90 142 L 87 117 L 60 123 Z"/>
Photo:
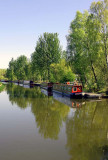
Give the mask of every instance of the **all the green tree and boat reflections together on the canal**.
<path id="1" fill-rule="evenodd" d="M 47 96 L 37 87 L 13 84 L 7 85 L 7 94 L 12 104 L 31 107 L 41 137 L 66 139 L 64 148 L 70 160 L 108 159 L 108 100 L 70 100 L 57 94 Z"/>

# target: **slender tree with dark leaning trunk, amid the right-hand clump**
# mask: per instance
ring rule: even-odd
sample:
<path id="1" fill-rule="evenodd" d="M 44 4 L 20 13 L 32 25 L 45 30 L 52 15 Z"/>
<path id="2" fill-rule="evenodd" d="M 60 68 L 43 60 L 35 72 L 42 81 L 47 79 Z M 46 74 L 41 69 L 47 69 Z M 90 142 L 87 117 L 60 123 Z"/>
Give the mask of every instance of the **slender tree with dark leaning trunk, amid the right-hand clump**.
<path id="1" fill-rule="evenodd" d="M 97 84 L 99 88 L 99 60 L 101 51 L 101 35 L 100 35 L 100 22 L 94 17 L 94 15 L 89 14 L 86 21 L 86 38 L 85 38 L 85 51 L 88 66 L 92 71 L 94 83 Z M 90 71 L 89 71 L 90 72 Z"/>

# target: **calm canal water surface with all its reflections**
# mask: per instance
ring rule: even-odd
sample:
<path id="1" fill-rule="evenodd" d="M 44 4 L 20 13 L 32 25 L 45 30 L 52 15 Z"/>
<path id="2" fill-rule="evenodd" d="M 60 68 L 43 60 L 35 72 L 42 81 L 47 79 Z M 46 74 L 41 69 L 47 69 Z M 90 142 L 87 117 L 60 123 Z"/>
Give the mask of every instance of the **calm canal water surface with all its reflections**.
<path id="1" fill-rule="evenodd" d="M 1 160 L 107 160 L 108 100 L 70 100 L 8 84 L 0 93 Z"/>

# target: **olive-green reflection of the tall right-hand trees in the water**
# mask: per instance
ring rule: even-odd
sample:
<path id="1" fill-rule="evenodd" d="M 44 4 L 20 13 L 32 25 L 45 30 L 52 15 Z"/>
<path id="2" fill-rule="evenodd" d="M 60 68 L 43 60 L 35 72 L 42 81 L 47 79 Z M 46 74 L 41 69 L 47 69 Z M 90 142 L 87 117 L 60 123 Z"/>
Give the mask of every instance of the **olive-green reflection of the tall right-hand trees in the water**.
<path id="1" fill-rule="evenodd" d="M 67 149 L 71 160 L 105 160 L 108 150 L 108 101 L 87 102 L 67 119 Z M 107 153 L 107 154 L 106 154 Z"/>

